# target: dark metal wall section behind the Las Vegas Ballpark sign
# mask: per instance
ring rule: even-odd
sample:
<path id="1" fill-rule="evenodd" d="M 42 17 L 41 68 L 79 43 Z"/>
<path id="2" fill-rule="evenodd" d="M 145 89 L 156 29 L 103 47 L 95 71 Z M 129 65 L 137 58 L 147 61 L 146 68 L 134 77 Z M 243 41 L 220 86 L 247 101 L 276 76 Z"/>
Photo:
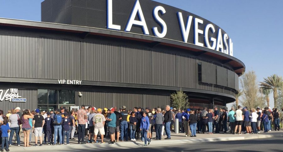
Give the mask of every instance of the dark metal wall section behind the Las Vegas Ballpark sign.
<path id="1" fill-rule="evenodd" d="M 7 88 L 0 90 L 6 91 Z M 0 101 L 0 109 L 4 111 L 4 114 L 8 113 L 8 110 L 16 107 L 20 107 L 21 110 L 30 109 L 31 111 L 37 108 L 37 90 L 19 89 L 18 93 L 21 98 L 26 98 L 26 102 Z"/>

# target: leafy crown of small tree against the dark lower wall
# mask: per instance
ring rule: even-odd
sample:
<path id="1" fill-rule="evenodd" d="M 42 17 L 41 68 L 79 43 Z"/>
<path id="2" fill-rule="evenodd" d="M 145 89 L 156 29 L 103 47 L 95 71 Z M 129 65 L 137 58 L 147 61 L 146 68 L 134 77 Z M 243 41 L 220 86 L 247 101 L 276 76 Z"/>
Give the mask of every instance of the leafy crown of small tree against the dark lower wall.
<path id="1" fill-rule="evenodd" d="M 187 97 L 188 96 L 182 90 L 176 91 L 170 95 L 172 106 L 179 110 L 189 107 L 190 103 L 188 102 Z"/>

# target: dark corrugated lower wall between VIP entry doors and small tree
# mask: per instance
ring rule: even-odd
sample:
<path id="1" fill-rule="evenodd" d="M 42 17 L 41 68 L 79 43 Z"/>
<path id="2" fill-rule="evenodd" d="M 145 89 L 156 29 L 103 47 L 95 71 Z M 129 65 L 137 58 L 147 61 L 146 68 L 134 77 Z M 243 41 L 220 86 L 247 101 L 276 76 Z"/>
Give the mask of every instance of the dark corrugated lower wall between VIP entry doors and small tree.
<path id="1" fill-rule="evenodd" d="M 105 93 L 105 92 L 81 92 L 83 95 L 76 100 L 77 105 L 85 104 L 95 106 L 96 108 L 111 108 L 117 106 L 126 106 L 127 109 L 134 107 L 162 107 L 170 104 L 169 95 L 145 95 L 145 94 L 127 94 L 127 93 Z"/>

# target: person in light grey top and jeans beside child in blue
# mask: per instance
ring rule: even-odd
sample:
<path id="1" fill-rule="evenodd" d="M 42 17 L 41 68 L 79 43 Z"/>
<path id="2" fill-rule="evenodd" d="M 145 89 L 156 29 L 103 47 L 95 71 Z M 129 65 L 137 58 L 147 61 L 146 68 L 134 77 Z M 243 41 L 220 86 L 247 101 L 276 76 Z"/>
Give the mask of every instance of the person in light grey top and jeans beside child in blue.
<path id="1" fill-rule="evenodd" d="M 18 120 L 20 120 L 19 115 L 17 114 L 15 109 L 11 110 L 11 115 L 9 116 L 9 120 L 10 120 L 10 137 L 9 137 L 9 146 L 12 146 L 12 140 L 13 140 L 13 136 L 14 133 L 16 133 L 16 138 L 17 138 L 17 144 L 18 146 L 20 146 L 20 137 L 19 137 L 19 122 Z"/>

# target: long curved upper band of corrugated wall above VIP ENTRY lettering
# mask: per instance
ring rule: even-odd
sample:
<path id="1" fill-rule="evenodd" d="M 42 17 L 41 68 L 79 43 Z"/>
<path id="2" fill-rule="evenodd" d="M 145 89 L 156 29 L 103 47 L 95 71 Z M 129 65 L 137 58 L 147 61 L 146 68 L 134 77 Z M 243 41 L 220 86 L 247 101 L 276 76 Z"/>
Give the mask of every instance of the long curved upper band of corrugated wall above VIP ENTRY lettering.
<path id="1" fill-rule="evenodd" d="M 0 77 L 149 84 L 224 92 L 224 88 L 199 84 L 197 80 L 198 62 L 202 62 L 203 72 L 218 65 L 159 50 L 4 34 L 0 34 L 0 49 Z M 228 70 L 230 88 L 238 86 L 234 76 Z"/>

